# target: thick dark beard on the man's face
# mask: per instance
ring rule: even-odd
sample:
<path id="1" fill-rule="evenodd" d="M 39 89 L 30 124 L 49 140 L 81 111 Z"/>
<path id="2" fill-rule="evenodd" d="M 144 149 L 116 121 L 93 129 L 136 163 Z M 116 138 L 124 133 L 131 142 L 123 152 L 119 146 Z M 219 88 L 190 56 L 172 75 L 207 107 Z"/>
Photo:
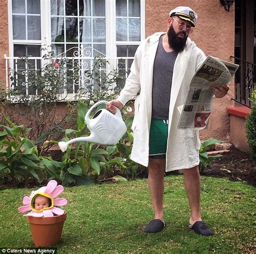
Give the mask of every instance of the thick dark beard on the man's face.
<path id="1" fill-rule="evenodd" d="M 184 38 L 180 38 L 178 37 L 178 34 L 182 33 L 184 34 Z M 185 31 L 180 31 L 179 33 L 176 33 L 171 26 L 169 27 L 169 30 L 167 32 L 167 36 L 168 36 L 168 43 L 170 45 L 170 47 L 174 50 L 174 51 L 178 51 L 181 52 L 184 50 L 184 47 L 186 46 L 186 41 L 187 41 L 187 34 Z"/>

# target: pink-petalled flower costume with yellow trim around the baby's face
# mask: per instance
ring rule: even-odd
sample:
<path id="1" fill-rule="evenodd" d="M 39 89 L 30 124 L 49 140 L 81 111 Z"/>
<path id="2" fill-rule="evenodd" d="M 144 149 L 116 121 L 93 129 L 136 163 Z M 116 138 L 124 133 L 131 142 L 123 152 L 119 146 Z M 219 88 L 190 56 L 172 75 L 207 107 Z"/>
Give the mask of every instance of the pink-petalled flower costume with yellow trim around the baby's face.
<path id="1" fill-rule="evenodd" d="M 52 217 L 54 215 L 62 215 L 65 213 L 64 210 L 56 207 L 56 206 L 65 206 L 68 201 L 64 198 L 55 199 L 58 195 L 63 193 L 64 187 L 62 185 L 57 185 L 55 180 L 51 180 L 48 182 L 47 186 L 39 188 L 37 191 L 32 191 L 30 196 L 23 197 L 24 206 L 19 207 L 18 211 L 21 213 L 26 213 L 30 211 L 30 213 L 25 214 L 24 216 L 33 216 L 33 217 Z M 35 197 L 38 195 L 42 195 L 48 197 L 51 201 L 49 207 L 45 207 L 41 210 L 36 210 L 34 206 Z"/>

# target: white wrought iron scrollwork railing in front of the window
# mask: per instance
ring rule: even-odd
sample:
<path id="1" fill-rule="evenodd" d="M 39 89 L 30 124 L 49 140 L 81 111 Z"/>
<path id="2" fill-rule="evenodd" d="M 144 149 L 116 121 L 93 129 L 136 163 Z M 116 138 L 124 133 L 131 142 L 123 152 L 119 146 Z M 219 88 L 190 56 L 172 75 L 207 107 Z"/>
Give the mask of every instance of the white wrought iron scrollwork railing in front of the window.
<path id="1" fill-rule="evenodd" d="M 31 82 L 28 80 L 29 70 L 37 70 L 38 73 L 44 75 L 42 67 L 46 63 L 50 63 L 52 68 L 57 68 L 56 63 L 58 66 L 58 61 L 61 61 L 63 58 L 65 58 L 65 61 L 69 62 L 69 67 L 66 66 L 66 68 L 63 68 L 63 75 L 66 79 L 66 83 L 69 84 L 69 86 L 66 87 L 69 87 L 69 89 L 64 88 L 62 91 L 59 91 L 59 94 L 63 94 L 65 100 L 72 100 L 75 98 L 78 90 L 93 85 L 93 80 L 87 76 L 86 71 L 92 71 L 95 62 L 99 59 L 103 63 L 99 66 L 99 73 L 107 75 L 113 70 L 120 70 L 127 77 L 134 59 L 133 57 L 106 57 L 103 53 L 96 50 L 93 51 L 96 52 L 96 57 L 91 56 L 92 48 L 89 47 L 84 48 L 83 51 L 80 48 L 73 47 L 50 59 L 43 57 L 8 57 L 5 54 L 6 91 L 18 87 L 23 90 L 24 94 L 31 95 Z M 72 52 L 72 55 L 70 52 Z M 78 77 L 76 79 L 69 79 L 77 70 Z"/>

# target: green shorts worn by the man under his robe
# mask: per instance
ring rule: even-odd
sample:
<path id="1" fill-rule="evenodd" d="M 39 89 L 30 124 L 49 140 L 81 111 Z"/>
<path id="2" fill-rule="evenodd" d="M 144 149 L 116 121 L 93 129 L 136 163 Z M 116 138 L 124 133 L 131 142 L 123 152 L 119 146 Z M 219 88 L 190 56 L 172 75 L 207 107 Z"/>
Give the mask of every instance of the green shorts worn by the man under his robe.
<path id="1" fill-rule="evenodd" d="M 168 138 L 168 120 L 151 119 L 149 137 L 149 157 L 165 158 Z"/>

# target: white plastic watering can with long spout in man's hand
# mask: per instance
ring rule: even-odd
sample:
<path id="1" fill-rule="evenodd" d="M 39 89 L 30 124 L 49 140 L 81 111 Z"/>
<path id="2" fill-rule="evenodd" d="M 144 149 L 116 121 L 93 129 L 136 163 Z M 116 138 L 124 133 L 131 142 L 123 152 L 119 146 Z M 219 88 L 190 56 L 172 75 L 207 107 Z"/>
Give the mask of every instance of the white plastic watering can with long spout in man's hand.
<path id="1" fill-rule="evenodd" d="M 90 114 L 100 104 L 107 104 L 107 101 L 95 103 L 86 113 L 85 121 L 91 135 L 88 137 L 73 138 L 68 142 L 59 142 L 59 148 L 66 151 L 69 144 L 75 142 L 92 142 L 100 145 L 116 145 L 126 132 L 126 125 L 123 121 L 120 110 L 117 108 L 116 114 L 109 110 L 99 109 L 90 119 Z"/>

